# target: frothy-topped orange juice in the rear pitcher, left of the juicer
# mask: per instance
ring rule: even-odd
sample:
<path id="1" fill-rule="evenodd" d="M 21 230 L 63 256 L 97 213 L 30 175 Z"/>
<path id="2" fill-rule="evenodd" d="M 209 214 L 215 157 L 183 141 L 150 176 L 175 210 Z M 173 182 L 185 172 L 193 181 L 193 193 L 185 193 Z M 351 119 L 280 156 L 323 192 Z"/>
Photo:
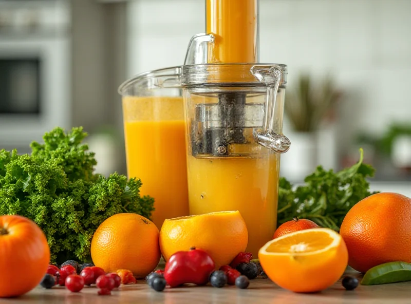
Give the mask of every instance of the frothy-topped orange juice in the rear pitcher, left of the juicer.
<path id="1" fill-rule="evenodd" d="M 128 177 L 155 199 L 153 222 L 189 215 L 182 98 L 123 98 Z M 164 120 L 162 120 L 164 119 Z"/>

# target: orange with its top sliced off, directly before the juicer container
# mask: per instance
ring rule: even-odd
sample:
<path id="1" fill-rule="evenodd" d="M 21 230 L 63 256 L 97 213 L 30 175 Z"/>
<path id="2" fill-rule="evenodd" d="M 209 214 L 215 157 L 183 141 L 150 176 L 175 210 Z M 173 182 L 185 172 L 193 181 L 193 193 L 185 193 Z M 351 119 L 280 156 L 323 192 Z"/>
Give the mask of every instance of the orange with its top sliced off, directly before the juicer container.
<path id="1" fill-rule="evenodd" d="M 238 211 L 223 211 L 165 220 L 160 248 L 165 260 L 177 251 L 206 251 L 216 268 L 228 265 L 247 247 L 248 232 Z"/>

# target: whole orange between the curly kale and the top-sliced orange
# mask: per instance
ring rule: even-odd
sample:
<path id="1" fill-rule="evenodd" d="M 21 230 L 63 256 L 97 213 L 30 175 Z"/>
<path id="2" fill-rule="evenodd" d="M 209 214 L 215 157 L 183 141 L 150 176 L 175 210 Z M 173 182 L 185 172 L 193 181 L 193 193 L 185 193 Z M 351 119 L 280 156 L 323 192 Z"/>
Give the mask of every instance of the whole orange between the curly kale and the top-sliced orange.
<path id="1" fill-rule="evenodd" d="M 158 228 L 152 221 L 134 213 L 119 213 L 96 230 L 91 240 L 91 258 L 107 273 L 128 269 L 143 278 L 160 261 L 158 238 Z"/>

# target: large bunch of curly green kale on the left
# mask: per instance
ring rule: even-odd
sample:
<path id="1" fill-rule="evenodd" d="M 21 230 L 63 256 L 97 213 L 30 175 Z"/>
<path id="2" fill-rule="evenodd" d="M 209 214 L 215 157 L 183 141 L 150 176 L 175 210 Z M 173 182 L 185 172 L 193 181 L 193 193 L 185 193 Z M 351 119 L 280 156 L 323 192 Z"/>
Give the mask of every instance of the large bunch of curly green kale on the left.
<path id="1" fill-rule="evenodd" d="M 44 144 L 31 144 L 31 155 L 0 150 L 0 215 L 35 221 L 59 263 L 89 261 L 92 235 L 106 218 L 124 212 L 150 218 L 154 210 L 153 198 L 140 197 L 139 179 L 93 173 L 97 162 L 85 137 L 82 128 L 68 134 L 55 128 Z"/>

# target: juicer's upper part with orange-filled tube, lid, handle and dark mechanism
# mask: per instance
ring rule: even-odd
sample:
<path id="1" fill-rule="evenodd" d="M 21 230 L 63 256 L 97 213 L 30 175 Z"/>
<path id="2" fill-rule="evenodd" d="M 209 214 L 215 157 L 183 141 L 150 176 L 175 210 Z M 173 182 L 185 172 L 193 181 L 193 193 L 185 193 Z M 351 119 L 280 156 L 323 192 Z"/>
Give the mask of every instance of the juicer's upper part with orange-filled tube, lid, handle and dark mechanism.
<path id="1" fill-rule="evenodd" d="M 204 92 L 197 89 L 197 95 L 214 96 L 209 98 L 213 102 L 204 99 L 196 103 L 193 113 L 188 113 L 192 118 L 189 133 L 194 157 L 249 155 L 233 147 L 251 143 L 253 140 L 247 136 L 251 129 L 256 143 L 275 152 L 284 153 L 290 146 L 285 136 L 273 130 L 276 94 L 285 88 L 286 66 L 241 66 L 258 62 L 258 6 L 258 0 L 206 0 L 207 33 L 192 37 L 181 80 L 185 88 L 209 87 Z M 206 63 L 214 65 L 202 65 Z M 229 65 L 233 63 L 240 65 Z M 246 101 L 253 77 L 274 86 L 272 101 Z M 210 90 L 217 83 L 220 89 Z M 221 89 L 230 86 L 232 90 Z"/>

